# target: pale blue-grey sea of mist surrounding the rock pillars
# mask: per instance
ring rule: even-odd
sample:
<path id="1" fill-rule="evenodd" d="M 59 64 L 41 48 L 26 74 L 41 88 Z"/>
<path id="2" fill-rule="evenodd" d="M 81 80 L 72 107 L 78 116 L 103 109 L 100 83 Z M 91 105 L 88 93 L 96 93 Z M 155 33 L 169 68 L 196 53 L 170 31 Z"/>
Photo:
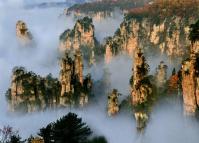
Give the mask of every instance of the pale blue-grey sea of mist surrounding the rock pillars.
<path id="1" fill-rule="evenodd" d="M 12 69 L 24 66 L 41 76 L 52 73 L 59 75 L 58 43 L 59 35 L 75 24 L 73 17 L 60 16 L 62 8 L 24 9 L 24 1 L 0 1 L 0 127 L 12 126 L 23 138 L 36 135 L 41 127 L 49 122 L 75 112 L 91 127 L 96 135 L 104 135 L 110 143 L 197 143 L 199 125 L 193 119 L 184 118 L 181 104 L 167 104 L 162 101 L 154 107 L 151 120 L 144 135 L 136 133 L 135 120 L 132 113 L 123 113 L 116 117 L 106 114 L 106 100 L 83 109 L 59 109 L 45 112 L 13 115 L 8 112 L 5 92 L 10 86 Z M 118 19 L 108 18 L 96 25 L 97 39 L 102 41 L 106 36 L 113 35 L 119 27 L 122 16 Z M 16 39 L 15 25 L 18 20 L 27 23 L 36 46 L 21 47 Z M 109 28 L 110 27 L 110 28 Z M 157 64 L 166 57 L 148 58 L 154 74 Z M 166 62 L 167 63 L 167 62 Z M 167 63 L 169 64 L 169 63 Z M 104 69 L 110 72 L 111 88 L 117 88 L 123 96 L 130 92 L 129 79 L 132 74 L 133 61 L 126 55 L 115 57 L 105 65 L 99 62 L 90 70 L 95 81 L 103 78 Z M 169 67 L 171 69 L 171 67 Z M 98 95 L 97 96 L 106 96 Z"/>

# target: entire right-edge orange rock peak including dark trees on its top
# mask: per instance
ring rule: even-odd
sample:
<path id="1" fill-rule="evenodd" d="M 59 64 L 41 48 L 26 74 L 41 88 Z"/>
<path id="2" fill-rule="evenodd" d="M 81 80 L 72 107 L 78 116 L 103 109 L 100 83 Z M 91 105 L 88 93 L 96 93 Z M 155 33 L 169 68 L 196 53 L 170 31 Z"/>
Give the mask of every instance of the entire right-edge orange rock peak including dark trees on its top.
<path id="1" fill-rule="evenodd" d="M 182 64 L 184 112 L 195 115 L 199 106 L 199 20 L 190 26 L 191 54 Z"/>

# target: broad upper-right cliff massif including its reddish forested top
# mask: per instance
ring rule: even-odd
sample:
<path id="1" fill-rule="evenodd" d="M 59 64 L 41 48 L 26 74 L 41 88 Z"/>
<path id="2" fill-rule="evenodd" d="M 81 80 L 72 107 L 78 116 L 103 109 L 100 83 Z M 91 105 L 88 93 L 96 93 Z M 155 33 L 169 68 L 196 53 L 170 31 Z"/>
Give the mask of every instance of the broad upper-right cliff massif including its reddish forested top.
<path id="1" fill-rule="evenodd" d="M 175 4 L 179 7 L 177 3 Z M 189 4 L 183 2 L 183 6 L 186 8 L 189 7 Z M 180 15 L 180 12 L 170 13 L 169 11 L 176 10 L 175 6 L 171 6 L 167 8 L 169 14 L 165 14 L 168 16 L 164 14 L 160 16 L 160 13 L 157 13 L 157 8 L 162 11 L 161 7 L 167 5 L 169 4 L 163 4 L 160 7 L 159 5 L 157 7 L 151 5 L 143 7 L 140 11 L 135 10 L 128 13 L 114 36 L 108 39 L 111 39 L 111 42 L 106 42 L 107 52 L 105 57 L 109 57 L 109 55 L 116 56 L 122 52 L 132 56 L 137 47 L 143 48 L 144 53 L 165 54 L 174 62 L 176 62 L 174 59 L 181 61 L 184 57 L 187 57 L 190 53 L 188 47 L 191 44 L 189 25 L 196 20 L 198 14 L 195 12 L 196 15 L 192 15 L 192 12 L 186 12 L 185 15 Z M 194 8 L 198 11 L 197 7 L 194 6 Z M 181 8 L 178 10 L 181 11 Z M 198 47 L 195 45 L 193 47 Z M 114 53 L 115 49 L 118 50 L 117 53 Z"/>

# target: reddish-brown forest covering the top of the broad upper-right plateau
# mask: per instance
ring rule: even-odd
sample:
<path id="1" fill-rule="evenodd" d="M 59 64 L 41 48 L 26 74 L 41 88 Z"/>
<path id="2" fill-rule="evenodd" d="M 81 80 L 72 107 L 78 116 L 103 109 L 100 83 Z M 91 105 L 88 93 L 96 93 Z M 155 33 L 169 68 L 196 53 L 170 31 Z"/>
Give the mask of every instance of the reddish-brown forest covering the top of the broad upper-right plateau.
<path id="1" fill-rule="evenodd" d="M 153 3 L 146 4 L 143 7 L 129 10 L 125 20 L 149 18 L 154 23 L 160 23 L 160 21 L 173 16 L 197 19 L 199 17 L 198 5 L 199 1 L 196 0 L 155 0 Z"/>

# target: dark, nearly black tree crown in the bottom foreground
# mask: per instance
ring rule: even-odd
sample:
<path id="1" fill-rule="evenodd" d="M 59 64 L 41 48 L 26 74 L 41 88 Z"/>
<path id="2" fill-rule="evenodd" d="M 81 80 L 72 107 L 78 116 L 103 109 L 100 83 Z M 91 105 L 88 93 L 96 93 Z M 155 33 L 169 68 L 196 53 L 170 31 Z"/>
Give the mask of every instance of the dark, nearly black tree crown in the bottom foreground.
<path id="1" fill-rule="evenodd" d="M 74 113 L 68 113 L 39 132 L 45 143 L 85 143 L 91 134 L 91 129 Z"/>

